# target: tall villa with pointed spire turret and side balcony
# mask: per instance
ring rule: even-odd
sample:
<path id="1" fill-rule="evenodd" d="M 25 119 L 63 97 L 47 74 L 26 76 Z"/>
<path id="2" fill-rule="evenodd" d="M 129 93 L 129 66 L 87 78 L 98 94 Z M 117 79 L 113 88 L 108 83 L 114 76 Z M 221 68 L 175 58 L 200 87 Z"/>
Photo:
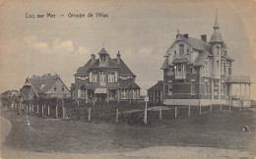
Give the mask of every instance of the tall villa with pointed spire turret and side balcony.
<path id="1" fill-rule="evenodd" d="M 250 87 L 250 78 L 232 76 L 233 59 L 227 54 L 218 15 L 211 40 L 180 34 L 165 54 L 163 71 L 163 104 L 226 104 L 232 99 L 232 85 Z"/>

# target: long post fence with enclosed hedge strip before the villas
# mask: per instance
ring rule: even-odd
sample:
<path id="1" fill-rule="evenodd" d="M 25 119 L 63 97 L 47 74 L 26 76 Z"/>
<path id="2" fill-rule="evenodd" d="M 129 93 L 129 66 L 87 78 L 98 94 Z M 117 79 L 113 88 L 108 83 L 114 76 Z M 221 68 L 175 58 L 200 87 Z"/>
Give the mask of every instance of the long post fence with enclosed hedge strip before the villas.
<path id="1" fill-rule="evenodd" d="M 79 119 L 85 121 L 125 122 L 129 124 L 148 124 L 156 120 L 190 118 L 216 111 L 232 110 L 229 105 L 209 106 L 156 106 L 147 108 L 140 106 L 135 110 L 113 109 L 104 107 L 67 107 L 64 100 L 58 105 L 47 104 L 21 104 L 16 103 L 11 108 L 28 114 L 35 114 L 54 119 Z"/>

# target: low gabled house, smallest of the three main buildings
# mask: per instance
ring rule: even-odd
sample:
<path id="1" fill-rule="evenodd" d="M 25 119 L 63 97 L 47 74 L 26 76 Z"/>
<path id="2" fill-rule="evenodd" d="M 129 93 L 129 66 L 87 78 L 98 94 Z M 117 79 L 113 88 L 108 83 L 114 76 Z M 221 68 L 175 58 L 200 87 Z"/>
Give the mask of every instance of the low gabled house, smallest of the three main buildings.
<path id="1" fill-rule="evenodd" d="M 58 75 L 32 76 L 25 81 L 21 93 L 25 100 L 34 98 L 69 98 L 70 90 Z"/>

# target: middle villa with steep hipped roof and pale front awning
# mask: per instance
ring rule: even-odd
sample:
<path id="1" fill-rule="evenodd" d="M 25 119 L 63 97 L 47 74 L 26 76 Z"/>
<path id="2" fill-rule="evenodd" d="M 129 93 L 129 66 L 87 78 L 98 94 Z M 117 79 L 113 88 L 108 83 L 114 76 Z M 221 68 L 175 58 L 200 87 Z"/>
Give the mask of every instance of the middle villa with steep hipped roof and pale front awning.
<path id="1" fill-rule="evenodd" d="M 118 52 L 116 59 L 102 48 L 96 55 L 77 70 L 75 83 L 71 85 L 72 98 L 94 101 L 138 101 L 140 86 L 135 82 L 136 76 L 126 66 Z"/>

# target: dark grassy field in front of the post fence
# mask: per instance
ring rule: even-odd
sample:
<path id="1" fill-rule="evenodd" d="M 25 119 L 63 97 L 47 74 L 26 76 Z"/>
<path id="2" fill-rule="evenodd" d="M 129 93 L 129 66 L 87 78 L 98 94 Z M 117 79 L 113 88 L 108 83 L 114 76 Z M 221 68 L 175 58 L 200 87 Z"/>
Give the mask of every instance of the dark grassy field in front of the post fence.
<path id="1" fill-rule="evenodd" d="M 148 126 L 102 121 L 47 120 L 2 110 L 12 130 L 5 145 L 36 152 L 127 152 L 150 146 L 203 146 L 255 153 L 255 112 L 215 112 L 193 118 L 155 120 Z M 247 125 L 249 133 L 242 132 Z"/>

